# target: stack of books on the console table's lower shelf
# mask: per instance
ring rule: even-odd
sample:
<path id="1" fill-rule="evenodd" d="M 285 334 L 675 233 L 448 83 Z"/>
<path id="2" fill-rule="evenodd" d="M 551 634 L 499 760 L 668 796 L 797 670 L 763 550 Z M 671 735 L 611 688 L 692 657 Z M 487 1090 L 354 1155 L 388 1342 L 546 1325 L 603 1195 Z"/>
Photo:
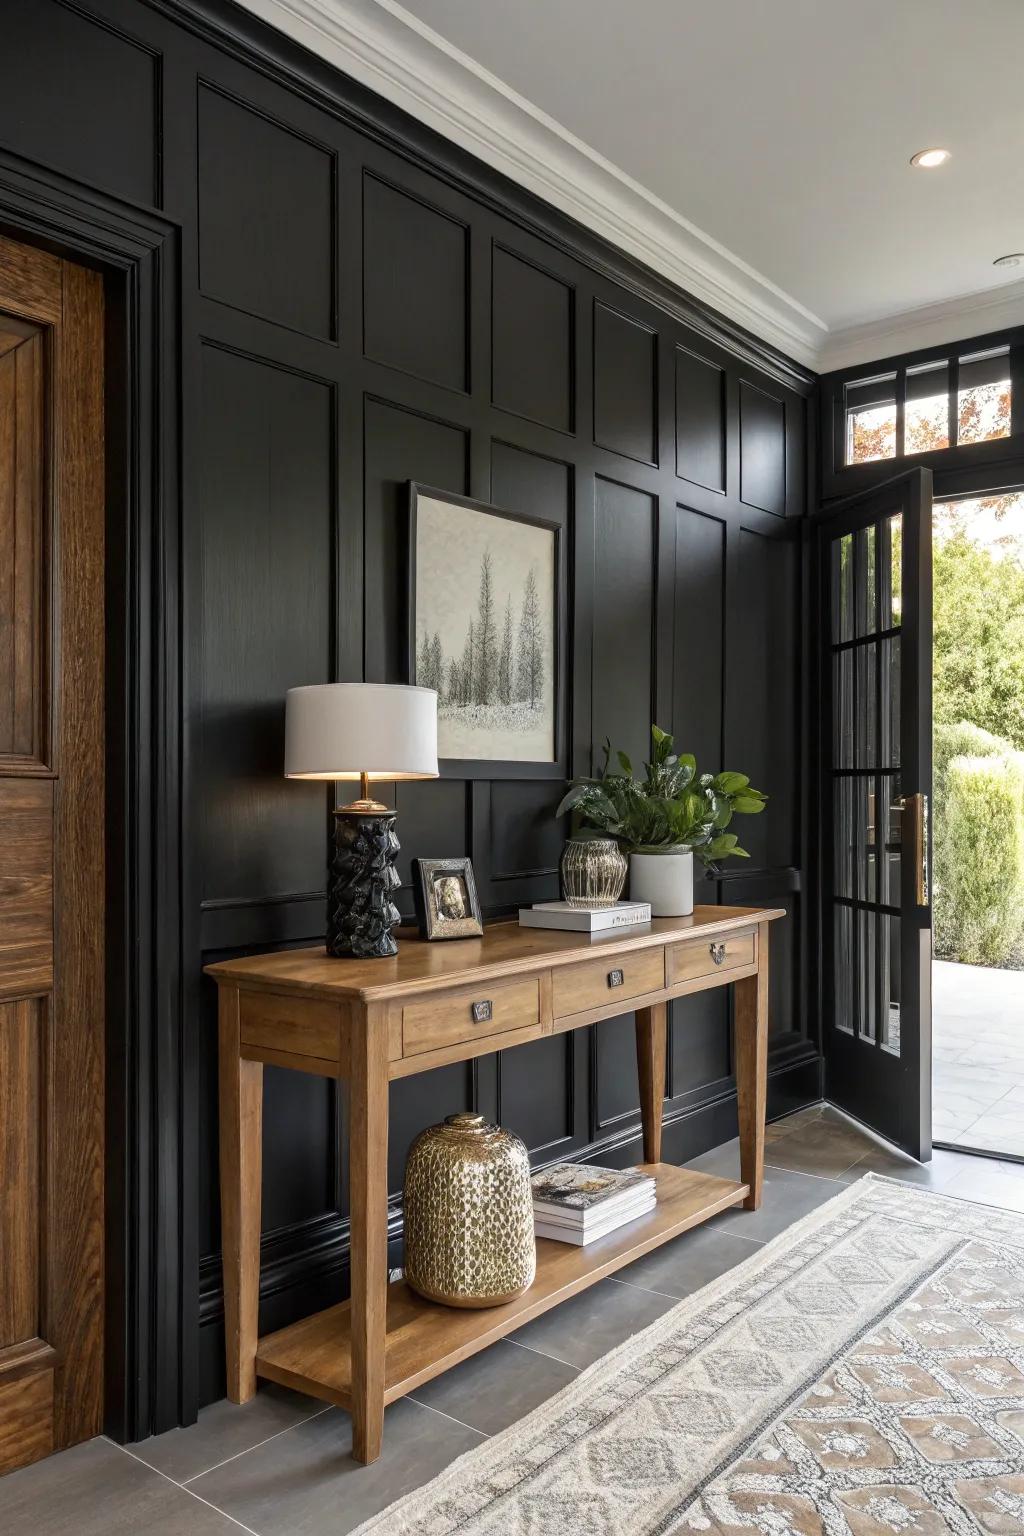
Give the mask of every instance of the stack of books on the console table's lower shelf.
<path id="1" fill-rule="evenodd" d="M 533 1180 L 533 1229 L 539 1238 L 583 1247 L 654 1210 L 654 1180 L 639 1169 L 554 1163 Z"/>

